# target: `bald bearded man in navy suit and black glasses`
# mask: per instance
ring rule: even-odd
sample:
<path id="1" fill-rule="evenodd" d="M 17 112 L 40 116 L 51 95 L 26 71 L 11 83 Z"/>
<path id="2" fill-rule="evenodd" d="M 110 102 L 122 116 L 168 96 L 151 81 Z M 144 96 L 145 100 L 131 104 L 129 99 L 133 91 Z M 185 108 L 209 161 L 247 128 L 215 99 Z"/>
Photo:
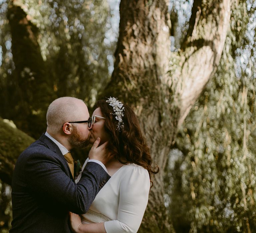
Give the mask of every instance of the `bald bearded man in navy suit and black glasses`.
<path id="1" fill-rule="evenodd" d="M 82 100 L 62 97 L 47 111 L 47 131 L 24 150 L 12 179 L 13 221 L 10 233 L 71 232 L 68 211 L 85 213 L 109 180 L 105 143 L 96 140 L 80 181 L 74 182 L 69 151 L 89 142 L 91 118 Z M 99 139 L 99 138 L 98 138 Z"/>

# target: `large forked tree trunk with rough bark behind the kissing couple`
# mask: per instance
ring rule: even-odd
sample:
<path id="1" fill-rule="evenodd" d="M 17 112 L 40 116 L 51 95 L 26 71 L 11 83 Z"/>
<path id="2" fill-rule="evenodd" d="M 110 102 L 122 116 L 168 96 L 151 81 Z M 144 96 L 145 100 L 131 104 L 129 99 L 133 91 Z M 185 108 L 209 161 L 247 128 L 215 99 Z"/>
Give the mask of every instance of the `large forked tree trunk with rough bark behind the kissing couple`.
<path id="1" fill-rule="evenodd" d="M 102 96 L 116 96 L 134 108 L 160 167 L 141 232 L 174 232 L 163 200 L 167 155 L 179 125 L 216 71 L 230 2 L 194 1 L 182 50 L 171 53 L 169 1 L 121 0 L 116 62 Z"/>

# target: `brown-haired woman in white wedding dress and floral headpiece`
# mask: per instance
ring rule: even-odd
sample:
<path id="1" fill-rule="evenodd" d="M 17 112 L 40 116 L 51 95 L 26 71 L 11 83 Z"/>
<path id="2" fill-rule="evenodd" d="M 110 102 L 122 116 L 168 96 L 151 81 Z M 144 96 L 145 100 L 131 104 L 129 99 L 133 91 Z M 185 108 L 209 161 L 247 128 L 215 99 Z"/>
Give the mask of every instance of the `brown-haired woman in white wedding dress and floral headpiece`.
<path id="1" fill-rule="evenodd" d="M 81 216 L 70 213 L 72 230 L 81 233 L 137 232 L 153 185 L 152 174 L 159 171 L 157 166 L 151 166 L 149 148 L 139 121 L 130 107 L 110 97 L 96 103 L 90 131 L 91 143 L 100 137 L 100 143 L 108 141 L 108 150 L 114 154 L 105 164 L 111 178 L 87 213 Z M 78 176 L 76 182 L 79 179 Z"/>

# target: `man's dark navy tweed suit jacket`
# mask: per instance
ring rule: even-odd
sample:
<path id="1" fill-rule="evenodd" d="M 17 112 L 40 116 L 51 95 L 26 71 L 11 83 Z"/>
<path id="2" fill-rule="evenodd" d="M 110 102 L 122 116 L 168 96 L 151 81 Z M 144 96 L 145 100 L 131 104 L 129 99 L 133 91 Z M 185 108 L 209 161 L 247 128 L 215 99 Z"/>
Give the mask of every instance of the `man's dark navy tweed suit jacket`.
<path id="1" fill-rule="evenodd" d="M 89 162 L 76 184 L 59 147 L 43 133 L 17 159 L 9 232 L 70 233 L 68 211 L 86 213 L 109 178 L 98 163 Z"/>

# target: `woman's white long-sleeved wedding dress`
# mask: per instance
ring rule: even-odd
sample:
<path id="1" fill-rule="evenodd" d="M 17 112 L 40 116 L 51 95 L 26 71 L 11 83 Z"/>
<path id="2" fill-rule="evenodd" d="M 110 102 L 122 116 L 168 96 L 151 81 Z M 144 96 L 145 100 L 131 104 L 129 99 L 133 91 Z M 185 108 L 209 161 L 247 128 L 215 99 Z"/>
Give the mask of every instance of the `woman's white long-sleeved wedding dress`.
<path id="1" fill-rule="evenodd" d="M 76 183 L 80 177 L 81 173 Z M 82 223 L 104 222 L 107 233 L 137 232 L 148 203 L 149 188 L 146 169 L 136 164 L 123 165 L 99 191 L 87 213 L 81 215 Z"/>

